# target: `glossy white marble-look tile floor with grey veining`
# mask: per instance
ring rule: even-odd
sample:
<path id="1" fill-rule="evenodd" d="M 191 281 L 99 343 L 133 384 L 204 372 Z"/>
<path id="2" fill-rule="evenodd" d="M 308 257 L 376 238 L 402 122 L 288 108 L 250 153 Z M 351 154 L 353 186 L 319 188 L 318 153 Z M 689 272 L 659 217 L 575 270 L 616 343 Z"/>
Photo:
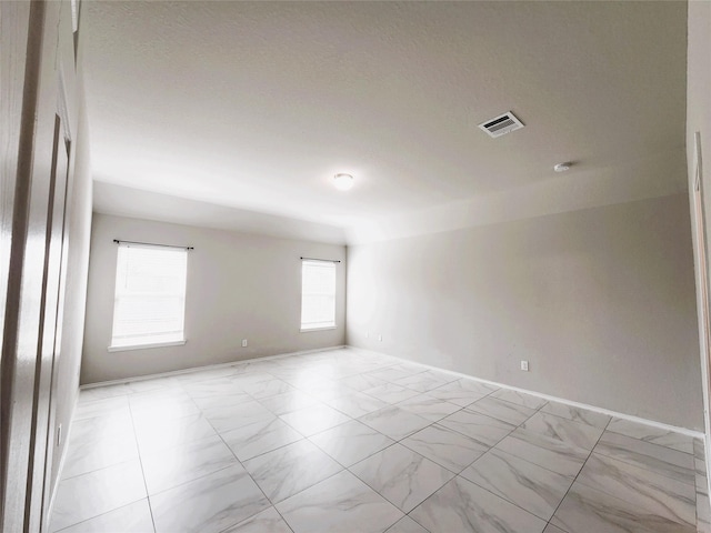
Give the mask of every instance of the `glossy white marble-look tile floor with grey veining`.
<path id="1" fill-rule="evenodd" d="M 52 531 L 711 532 L 701 441 L 353 349 L 82 391 Z"/>

